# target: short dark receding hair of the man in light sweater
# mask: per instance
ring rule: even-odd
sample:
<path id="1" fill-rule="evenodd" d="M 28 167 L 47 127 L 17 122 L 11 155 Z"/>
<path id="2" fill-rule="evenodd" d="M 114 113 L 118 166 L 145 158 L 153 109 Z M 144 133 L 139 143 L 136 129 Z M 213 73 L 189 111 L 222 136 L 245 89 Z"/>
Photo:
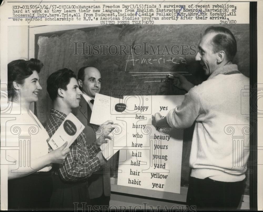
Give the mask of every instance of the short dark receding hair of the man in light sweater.
<path id="1" fill-rule="evenodd" d="M 226 53 L 226 59 L 232 61 L 236 55 L 237 46 L 236 39 L 232 32 L 225 27 L 208 27 L 205 34 L 217 33 L 212 39 L 212 46 L 214 53 L 223 50 Z"/>

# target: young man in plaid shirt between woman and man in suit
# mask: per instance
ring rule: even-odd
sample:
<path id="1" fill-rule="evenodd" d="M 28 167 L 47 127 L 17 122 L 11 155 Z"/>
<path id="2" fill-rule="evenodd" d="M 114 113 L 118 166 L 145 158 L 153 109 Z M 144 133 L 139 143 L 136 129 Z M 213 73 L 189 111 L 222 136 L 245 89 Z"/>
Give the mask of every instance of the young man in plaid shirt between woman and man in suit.
<path id="1" fill-rule="evenodd" d="M 72 109 L 79 106 L 82 92 L 75 74 L 67 68 L 58 70 L 48 77 L 47 91 L 53 101 L 53 108 L 50 110 L 45 128 L 51 137 Z M 110 124 L 112 124 L 110 120 L 103 124 L 103 136 L 111 132 Z M 53 165 L 51 208 L 75 209 L 85 206 L 85 203 L 90 205 L 87 178 L 102 168 L 104 159 L 99 149 L 101 144 L 102 137 L 87 146 L 86 136 L 82 132 L 69 147 L 70 152 L 65 162 Z"/>

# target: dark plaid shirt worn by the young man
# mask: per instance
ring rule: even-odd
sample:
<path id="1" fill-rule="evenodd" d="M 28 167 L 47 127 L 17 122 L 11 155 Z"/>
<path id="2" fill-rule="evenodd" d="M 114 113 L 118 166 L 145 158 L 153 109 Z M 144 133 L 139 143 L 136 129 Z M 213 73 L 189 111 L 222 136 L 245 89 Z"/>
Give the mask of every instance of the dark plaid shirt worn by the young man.
<path id="1" fill-rule="evenodd" d="M 66 114 L 58 110 L 50 110 L 50 117 L 45 126 L 50 138 L 66 117 Z M 94 142 L 87 146 L 86 136 L 83 132 L 79 134 L 69 149 L 70 152 L 67 154 L 65 162 L 59 164 L 57 170 L 63 180 L 81 180 L 92 175 L 93 171 L 100 169 L 99 158 L 95 157 L 100 149 L 96 147 Z"/>

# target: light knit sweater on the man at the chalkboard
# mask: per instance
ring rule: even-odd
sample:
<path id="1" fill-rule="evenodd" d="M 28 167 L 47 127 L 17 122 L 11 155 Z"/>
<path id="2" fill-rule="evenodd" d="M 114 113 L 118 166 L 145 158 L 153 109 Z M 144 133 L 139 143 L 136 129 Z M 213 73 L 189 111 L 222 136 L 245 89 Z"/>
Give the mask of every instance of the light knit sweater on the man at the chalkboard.
<path id="1" fill-rule="evenodd" d="M 250 131 L 249 90 L 244 92 L 244 86 L 249 78 L 241 73 L 224 75 L 234 70 L 238 70 L 235 64 L 216 69 L 166 117 L 177 129 L 196 121 L 189 161 L 192 177 L 225 182 L 245 178 Z"/>

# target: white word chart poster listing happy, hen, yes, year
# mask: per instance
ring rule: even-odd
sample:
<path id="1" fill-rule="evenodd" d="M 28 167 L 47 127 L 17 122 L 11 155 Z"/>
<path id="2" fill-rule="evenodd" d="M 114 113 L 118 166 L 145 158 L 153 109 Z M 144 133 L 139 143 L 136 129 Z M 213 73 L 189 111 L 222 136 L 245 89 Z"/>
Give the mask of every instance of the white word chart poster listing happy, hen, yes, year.
<path id="1" fill-rule="evenodd" d="M 129 98 L 128 96 L 124 99 Z M 120 150 L 118 185 L 180 193 L 183 130 L 151 124 L 152 115 L 162 117 L 180 105 L 183 95 L 157 95 L 142 102 L 126 100 L 133 114 L 127 122 L 127 147 Z M 137 98 L 138 99 L 138 98 Z"/>

